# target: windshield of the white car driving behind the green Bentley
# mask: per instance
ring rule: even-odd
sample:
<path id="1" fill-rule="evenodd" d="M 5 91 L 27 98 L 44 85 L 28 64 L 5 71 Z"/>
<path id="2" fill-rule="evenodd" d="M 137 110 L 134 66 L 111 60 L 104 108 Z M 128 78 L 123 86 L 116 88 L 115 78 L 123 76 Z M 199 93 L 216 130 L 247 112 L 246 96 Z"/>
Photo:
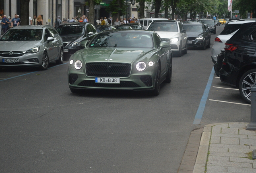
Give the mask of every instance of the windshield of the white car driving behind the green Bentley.
<path id="1" fill-rule="evenodd" d="M 155 22 L 147 30 L 178 32 L 178 27 L 175 22 Z"/>

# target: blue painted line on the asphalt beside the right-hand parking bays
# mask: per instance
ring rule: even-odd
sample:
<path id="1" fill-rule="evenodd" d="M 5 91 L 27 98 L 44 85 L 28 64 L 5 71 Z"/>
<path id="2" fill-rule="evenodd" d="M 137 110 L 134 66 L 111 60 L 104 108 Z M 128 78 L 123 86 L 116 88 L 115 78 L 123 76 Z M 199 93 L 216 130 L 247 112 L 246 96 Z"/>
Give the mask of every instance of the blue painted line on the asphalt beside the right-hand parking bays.
<path id="1" fill-rule="evenodd" d="M 206 105 L 206 101 L 207 101 L 209 91 L 211 89 L 211 85 L 212 85 L 212 82 L 213 82 L 213 76 L 214 76 L 214 68 L 212 69 L 212 72 L 209 76 L 209 80 L 208 80 L 207 85 L 204 89 L 204 94 L 203 94 L 202 99 L 200 101 L 200 104 L 199 104 L 199 107 L 198 107 L 198 110 L 197 110 L 197 113 L 196 113 L 193 124 L 200 124 L 201 123 L 201 119 L 202 119 L 202 115 L 204 113 L 204 108 L 205 108 L 205 105 Z"/>

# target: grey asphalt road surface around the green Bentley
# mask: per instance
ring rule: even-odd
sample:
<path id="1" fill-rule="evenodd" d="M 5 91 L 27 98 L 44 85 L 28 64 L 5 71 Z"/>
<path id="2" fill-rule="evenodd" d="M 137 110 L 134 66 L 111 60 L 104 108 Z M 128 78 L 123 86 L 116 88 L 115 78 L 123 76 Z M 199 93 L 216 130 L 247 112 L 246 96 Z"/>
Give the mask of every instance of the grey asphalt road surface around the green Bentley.
<path id="1" fill-rule="evenodd" d="M 250 122 L 250 105 L 214 75 L 200 124 L 193 124 L 213 68 L 211 48 L 173 58 L 172 81 L 157 97 L 73 94 L 67 64 L 51 67 L 0 71 L 1 173 L 177 173 L 192 130 Z"/>

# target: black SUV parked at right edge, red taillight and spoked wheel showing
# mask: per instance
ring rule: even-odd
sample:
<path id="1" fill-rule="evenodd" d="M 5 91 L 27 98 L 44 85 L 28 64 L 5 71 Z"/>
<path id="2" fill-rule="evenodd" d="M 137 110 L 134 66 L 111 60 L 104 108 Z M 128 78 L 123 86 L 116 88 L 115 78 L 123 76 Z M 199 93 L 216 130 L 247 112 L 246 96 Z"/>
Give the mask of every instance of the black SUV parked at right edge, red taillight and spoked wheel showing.
<path id="1" fill-rule="evenodd" d="M 221 82 L 239 88 L 250 103 L 251 88 L 256 83 L 256 22 L 242 24 L 227 40 L 219 76 Z"/>

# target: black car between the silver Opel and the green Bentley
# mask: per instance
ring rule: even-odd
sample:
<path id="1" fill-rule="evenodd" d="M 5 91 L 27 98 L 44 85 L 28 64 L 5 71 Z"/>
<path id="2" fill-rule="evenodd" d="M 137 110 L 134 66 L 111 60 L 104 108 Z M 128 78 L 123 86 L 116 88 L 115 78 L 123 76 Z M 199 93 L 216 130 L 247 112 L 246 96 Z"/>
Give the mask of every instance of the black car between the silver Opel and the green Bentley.
<path id="1" fill-rule="evenodd" d="M 57 31 L 63 40 L 64 56 L 67 58 L 77 50 L 85 48 L 81 45 L 81 41 L 90 41 L 98 33 L 93 24 L 87 22 L 60 24 Z"/>

